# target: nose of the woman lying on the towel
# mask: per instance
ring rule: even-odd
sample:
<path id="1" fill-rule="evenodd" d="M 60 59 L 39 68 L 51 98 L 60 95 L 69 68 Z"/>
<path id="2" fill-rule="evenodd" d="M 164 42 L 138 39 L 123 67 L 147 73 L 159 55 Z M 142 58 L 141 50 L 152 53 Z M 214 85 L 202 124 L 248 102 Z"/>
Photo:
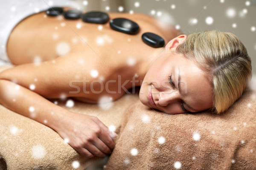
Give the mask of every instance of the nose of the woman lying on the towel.
<path id="1" fill-rule="evenodd" d="M 171 103 L 177 102 L 179 100 L 179 94 L 177 94 L 176 91 L 172 92 L 160 92 L 159 93 L 159 99 L 158 99 L 158 104 L 161 106 L 167 106 Z"/>

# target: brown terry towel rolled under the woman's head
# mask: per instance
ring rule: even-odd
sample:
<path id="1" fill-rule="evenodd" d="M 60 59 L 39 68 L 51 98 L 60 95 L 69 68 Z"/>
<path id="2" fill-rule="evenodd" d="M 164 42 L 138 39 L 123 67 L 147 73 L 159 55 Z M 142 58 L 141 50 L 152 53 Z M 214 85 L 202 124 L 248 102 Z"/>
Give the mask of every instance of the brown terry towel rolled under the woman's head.
<path id="1" fill-rule="evenodd" d="M 105 170 L 256 170 L 256 91 L 226 113 L 169 115 L 137 101 Z"/>

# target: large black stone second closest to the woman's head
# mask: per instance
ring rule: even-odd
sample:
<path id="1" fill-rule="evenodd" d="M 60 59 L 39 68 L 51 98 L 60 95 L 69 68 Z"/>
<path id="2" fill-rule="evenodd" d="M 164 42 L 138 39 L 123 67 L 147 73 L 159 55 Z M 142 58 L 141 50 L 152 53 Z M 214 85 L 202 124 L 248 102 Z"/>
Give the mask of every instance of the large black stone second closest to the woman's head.
<path id="1" fill-rule="evenodd" d="M 113 30 L 126 34 L 136 34 L 140 28 L 137 23 L 126 18 L 115 18 L 111 20 L 109 24 Z"/>

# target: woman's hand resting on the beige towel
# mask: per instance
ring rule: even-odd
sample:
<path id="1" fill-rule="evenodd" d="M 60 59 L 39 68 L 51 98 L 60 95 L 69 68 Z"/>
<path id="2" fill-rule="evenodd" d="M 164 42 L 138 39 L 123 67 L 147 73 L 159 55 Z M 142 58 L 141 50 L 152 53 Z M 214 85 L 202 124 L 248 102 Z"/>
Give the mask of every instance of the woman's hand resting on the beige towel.
<path id="1" fill-rule="evenodd" d="M 108 130 L 97 117 L 69 112 L 55 128 L 58 134 L 81 155 L 105 156 L 114 149 L 116 133 Z"/>

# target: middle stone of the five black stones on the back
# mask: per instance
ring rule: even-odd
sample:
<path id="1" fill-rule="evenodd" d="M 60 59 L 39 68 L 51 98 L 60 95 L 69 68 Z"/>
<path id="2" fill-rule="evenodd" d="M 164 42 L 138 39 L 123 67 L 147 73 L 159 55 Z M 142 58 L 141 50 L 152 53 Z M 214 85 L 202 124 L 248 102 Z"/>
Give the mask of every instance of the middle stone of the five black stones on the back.
<path id="1" fill-rule="evenodd" d="M 82 15 L 82 20 L 86 23 L 105 24 L 108 22 L 109 17 L 105 12 L 92 11 Z"/>

